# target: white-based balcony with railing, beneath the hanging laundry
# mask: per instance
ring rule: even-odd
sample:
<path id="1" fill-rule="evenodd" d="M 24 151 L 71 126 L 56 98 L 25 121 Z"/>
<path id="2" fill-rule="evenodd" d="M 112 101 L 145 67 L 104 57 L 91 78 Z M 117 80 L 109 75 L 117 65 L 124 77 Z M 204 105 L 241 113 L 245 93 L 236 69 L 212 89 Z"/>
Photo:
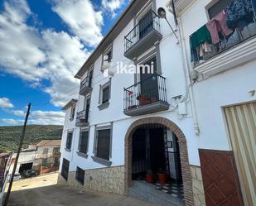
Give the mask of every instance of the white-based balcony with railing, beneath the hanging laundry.
<path id="1" fill-rule="evenodd" d="M 207 79 L 227 69 L 245 64 L 256 58 L 256 23 L 250 23 L 243 30 L 239 27 L 229 36 L 219 33 L 220 42 L 210 44 L 209 53 L 200 54 L 200 47 L 196 48 L 191 60 L 194 70 Z"/>

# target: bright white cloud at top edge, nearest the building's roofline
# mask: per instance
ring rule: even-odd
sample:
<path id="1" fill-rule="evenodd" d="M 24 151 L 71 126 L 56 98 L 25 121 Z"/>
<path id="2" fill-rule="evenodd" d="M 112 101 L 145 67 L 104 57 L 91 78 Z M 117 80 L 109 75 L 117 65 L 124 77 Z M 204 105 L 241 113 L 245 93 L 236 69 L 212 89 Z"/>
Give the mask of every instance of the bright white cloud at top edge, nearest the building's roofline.
<path id="1" fill-rule="evenodd" d="M 52 9 L 86 45 L 97 46 L 103 38 L 103 13 L 89 0 L 55 0 Z"/>

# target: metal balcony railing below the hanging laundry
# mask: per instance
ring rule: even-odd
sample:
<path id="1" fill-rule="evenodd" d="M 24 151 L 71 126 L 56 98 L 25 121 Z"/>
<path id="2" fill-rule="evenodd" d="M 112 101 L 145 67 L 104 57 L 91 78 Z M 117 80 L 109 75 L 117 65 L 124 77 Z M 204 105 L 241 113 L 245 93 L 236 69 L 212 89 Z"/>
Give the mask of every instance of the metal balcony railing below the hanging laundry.
<path id="1" fill-rule="evenodd" d="M 249 38 L 256 36 L 256 22 L 250 23 L 248 26 L 236 27 L 234 32 L 229 36 L 225 36 L 223 33 L 219 33 L 220 41 L 217 44 L 209 44 L 207 52 L 204 51 L 204 47 L 198 46 L 195 50 L 191 50 L 191 62 L 196 67 L 205 60 L 213 58 L 215 55 L 225 52 L 234 46 L 237 46 L 243 41 L 248 40 Z M 208 42 L 209 43 L 209 42 Z"/>

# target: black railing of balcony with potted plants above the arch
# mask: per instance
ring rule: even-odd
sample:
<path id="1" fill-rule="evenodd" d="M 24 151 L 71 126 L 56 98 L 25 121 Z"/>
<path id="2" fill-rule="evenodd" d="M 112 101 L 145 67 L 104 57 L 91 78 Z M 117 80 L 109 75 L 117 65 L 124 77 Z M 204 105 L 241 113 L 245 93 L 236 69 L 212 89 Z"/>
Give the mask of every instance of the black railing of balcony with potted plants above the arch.
<path id="1" fill-rule="evenodd" d="M 167 103 L 166 79 L 159 74 L 152 74 L 149 78 L 124 89 L 123 95 L 124 111 L 150 103 Z"/>

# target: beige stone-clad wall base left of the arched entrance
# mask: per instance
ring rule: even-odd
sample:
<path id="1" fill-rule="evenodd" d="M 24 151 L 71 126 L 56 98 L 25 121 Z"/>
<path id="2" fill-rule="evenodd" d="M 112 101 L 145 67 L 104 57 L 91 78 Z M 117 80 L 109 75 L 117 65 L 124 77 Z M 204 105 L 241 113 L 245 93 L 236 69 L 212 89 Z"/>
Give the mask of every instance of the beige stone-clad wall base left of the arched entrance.
<path id="1" fill-rule="evenodd" d="M 69 172 L 68 181 L 60 174 L 58 184 L 69 185 L 78 189 L 92 189 L 99 192 L 124 194 L 124 166 L 85 170 L 85 184 L 75 180 L 75 172 Z"/>

